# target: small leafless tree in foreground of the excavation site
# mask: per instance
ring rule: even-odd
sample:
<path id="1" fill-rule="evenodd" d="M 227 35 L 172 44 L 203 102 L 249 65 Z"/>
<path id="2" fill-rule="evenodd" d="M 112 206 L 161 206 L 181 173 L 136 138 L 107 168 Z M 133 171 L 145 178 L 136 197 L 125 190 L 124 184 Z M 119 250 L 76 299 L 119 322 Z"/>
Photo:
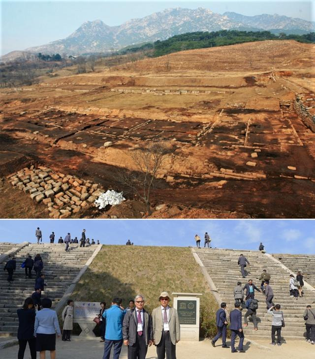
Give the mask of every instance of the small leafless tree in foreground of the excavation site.
<path id="1" fill-rule="evenodd" d="M 158 172 L 166 155 L 173 152 L 162 142 L 154 142 L 147 147 L 131 150 L 128 154 L 137 167 L 137 171 L 121 171 L 119 181 L 130 188 L 145 203 L 147 212 L 151 214 L 150 196 L 157 180 Z"/>

